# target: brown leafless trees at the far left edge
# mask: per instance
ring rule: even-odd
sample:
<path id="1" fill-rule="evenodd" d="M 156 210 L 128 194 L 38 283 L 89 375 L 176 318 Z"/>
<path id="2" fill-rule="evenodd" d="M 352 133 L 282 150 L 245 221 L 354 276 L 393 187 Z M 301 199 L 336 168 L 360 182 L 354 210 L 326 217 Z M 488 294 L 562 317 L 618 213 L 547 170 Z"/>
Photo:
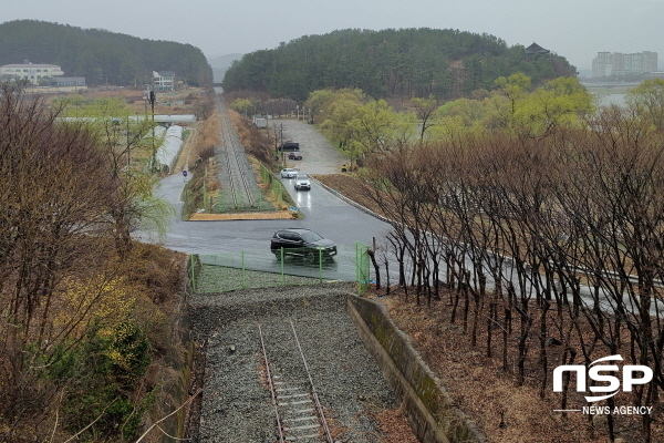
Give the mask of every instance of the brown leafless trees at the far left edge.
<path id="1" fill-rule="evenodd" d="M 20 86 L 1 87 L 0 416 L 20 420 L 43 412 L 55 393 L 38 388 L 43 384 L 35 383 L 34 367 L 48 364 L 75 329 L 56 327 L 52 309 L 65 302 L 69 282 L 100 269 L 108 246 L 106 202 L 115 189 L 92 131 L 58 123 L 59 110 Z M 90 309 L 93 299 L 91 293 L 74 311 Z"/>

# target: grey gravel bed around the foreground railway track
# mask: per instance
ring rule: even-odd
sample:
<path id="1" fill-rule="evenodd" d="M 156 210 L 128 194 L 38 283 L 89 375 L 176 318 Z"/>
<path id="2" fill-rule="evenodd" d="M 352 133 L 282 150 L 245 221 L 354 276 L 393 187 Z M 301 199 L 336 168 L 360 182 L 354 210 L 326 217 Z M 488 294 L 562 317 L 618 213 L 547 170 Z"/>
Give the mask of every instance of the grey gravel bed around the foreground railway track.
<path id="1" fill-rule="evenodd" d="M 190 319 L 206 361 L 193 441 L 279 441 L 259 323 L 270 362 L 288 378 L 302 374 L 292 321 L 333 441 L 386 442 L 376 416 L 396 408 L 394 394 L 346 312 L 352 290 L 321 284 L 193 296 Z"/>

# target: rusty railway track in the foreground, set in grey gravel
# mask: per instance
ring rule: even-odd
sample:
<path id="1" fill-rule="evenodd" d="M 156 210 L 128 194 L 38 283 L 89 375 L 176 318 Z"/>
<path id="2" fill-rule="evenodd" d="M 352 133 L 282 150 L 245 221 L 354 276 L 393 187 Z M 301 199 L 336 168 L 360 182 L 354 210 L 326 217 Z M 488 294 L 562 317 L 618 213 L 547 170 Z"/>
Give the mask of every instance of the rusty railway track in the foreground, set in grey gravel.
<path id="1" fill-rule="evenodd" d="M 263 330 L 258 326 L 266 375 L 274 408 L 277 442 L 335 443 L 292 321 L 290 327 L 293 338 L 292 358 L 301 360 L 301 371 L 294 371 L 297 373 L 281 369 L 279 361 L 269 359 Z"/>

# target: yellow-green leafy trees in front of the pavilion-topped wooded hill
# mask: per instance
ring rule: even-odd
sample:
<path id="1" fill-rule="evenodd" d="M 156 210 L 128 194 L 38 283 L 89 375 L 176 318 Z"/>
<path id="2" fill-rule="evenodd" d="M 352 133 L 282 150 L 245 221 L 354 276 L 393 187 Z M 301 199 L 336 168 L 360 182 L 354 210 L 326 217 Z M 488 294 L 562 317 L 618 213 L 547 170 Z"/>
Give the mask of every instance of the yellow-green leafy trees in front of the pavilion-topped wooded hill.
<path id="1" fill-rule="evenodd" d="M 236 102 L 251 109 L 249 100 Z M 492 91 L 477 90 L 471 97 L 447 102 L 434 95 L 415 97 L 398 112 L 359 89 L 318 90 L 309 95 L 302 111 L 352 162 L 362 164 L 372 153 L 391 146 L 435 143 L 452 133 L 509 131 L 520 138 L 544 136 L 594 106 L 591 94 L 574 78 L 559 78 L 535 87 L 530 78 L 516 73 L 498 78 Z"/>

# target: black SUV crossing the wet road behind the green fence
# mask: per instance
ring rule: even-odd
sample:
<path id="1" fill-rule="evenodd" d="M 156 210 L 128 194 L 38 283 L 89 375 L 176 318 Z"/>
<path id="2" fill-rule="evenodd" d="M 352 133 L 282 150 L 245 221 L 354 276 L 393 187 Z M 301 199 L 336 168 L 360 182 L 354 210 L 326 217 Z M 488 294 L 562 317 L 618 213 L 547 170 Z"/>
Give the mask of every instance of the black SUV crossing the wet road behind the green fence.
<path id="1" fill-rule="evenodd" d="M 332 259 L 336 255 L 336 244 L 324 239 L 311 229 L 290 228 L 280 229 L 274 233 L 270 243 L 270 250 L 281 258 L 283 256 L 303 257 L 309 262 L 318 261 L 318 258 Z"/>

